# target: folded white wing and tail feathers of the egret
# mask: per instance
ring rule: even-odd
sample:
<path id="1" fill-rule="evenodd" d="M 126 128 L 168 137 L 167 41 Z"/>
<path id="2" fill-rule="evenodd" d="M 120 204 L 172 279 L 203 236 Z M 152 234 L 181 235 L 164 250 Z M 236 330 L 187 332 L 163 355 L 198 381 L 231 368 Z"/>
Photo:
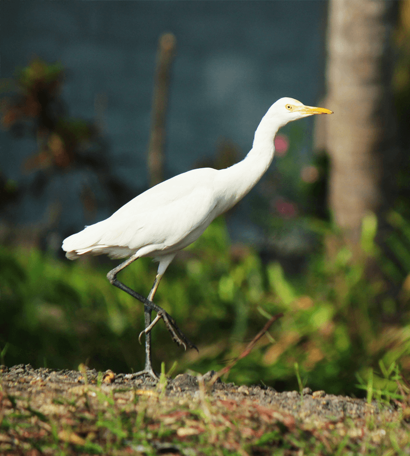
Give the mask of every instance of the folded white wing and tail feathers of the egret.
<path id="1" fill-rule="evenodd" d="M 108 219 L 69 236 L 64 250 L 71 258 L 84 253 L 124 257 L 140 249 L 147 255 L 186 247 L 215 216 L 215 173 L 211 168 L 196 169 L 158 184 Z"/>

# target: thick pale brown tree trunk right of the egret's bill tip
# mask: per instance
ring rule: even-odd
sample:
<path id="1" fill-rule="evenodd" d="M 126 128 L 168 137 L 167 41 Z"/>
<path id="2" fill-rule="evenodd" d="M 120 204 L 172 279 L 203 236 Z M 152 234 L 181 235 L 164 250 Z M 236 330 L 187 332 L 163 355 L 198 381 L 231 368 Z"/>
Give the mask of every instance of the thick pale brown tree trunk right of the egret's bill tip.
<path id="1" fill-rule="evenodd" d="M 354 243 L 364 215 L 380 212 L 392 188 L 394 16 L 393 2 L 329 4 L 326 106 L 335 112 L 326 126 L 329 204 L 335 222 Z"/>

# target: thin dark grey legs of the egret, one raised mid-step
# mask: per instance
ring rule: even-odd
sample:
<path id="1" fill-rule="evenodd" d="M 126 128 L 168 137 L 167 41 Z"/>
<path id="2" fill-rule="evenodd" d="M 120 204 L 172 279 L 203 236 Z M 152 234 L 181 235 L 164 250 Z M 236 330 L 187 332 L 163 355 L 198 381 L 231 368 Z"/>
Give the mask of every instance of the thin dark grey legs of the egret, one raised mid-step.
<path id="1" fill-rule="evenodd" d="M 162 307 L 159 307 L 158 305 L 156 305 L 155 303 L 152 302 L 153 296 L 156 292 L 156 289 L 158 287 L 158 284 L 159 284 L 159 281 L 160 281 L 162 275 L 161 276 L 157 275 L 157 277 L 155 277 L 154 285 L 152 286 L 150 294 L 148 295 L 148 299 L 144 298 L 144 296 L 137 293 L 132 288 L 127 287 L 127 285 L 124 285 L 122 282 L 120 282 L 117 279 L 118 272 L 121 271 L 122 269 L 124 269 L 129 264 L 131 264 L 137 258 L 138 258 L 137 255 L 132 255 L 129 257 L 128 260 L 121 263 L 116 268 L 112 269 L 107 274 L 108 280 L 110 281 L 110 283 L 112 285 L 116 286 L 120 290 L 127 292 L 128 294 L 133 296 L 133 298 L 137 299 L 138 301 L 140 301 L 141 303 L 144 304 L 146 329 L 143 332 L 145 332 L 146 335 L 148 335 L 150 333 L 153 326 L 158 322 L 159 319 L 162 318 L 168 331 L 171 333 L 172 340 L 174 342 L 176 342 L 178 345 L 182 345 L 185 349 L 187 349 L 187 346 L 188 346 L 189 348 L 195 348 L 196 350 L 198 350 L 196 348 L 196 346 L 192 342 L 190 342 L 189 339 L 186 337 L 186 335 L 183 334 L 183 332 L 179 329 L 176 321 L 172 318 L 172 316 L 168 312 L 166 312 L 164 309 L 162 309 Z M 156 315 L 154 321 L 151 323 L 151 312 L 153 310 L 155 312 L 157 312 L 157 315 Z M 140 334 L 140 336 L 141 336 L 141 334 Z M 149 353 L 151 353 L 151 338 L 149 336 L 149 338 L 146 339 L 146 354 L 147 354 L 147 341 L 148 340 L 149 340 L 148 345 L 150 347 L 148 350 L 149 350 Z M 147 361 L 147 358 L 146 358 L 146 365 L 151 364 L 151 355 L 149 355 L 148 358 L 149 358 L 149 361 Z M 151 368 L 151 370 L 152 370 L 152 368 Z"/>

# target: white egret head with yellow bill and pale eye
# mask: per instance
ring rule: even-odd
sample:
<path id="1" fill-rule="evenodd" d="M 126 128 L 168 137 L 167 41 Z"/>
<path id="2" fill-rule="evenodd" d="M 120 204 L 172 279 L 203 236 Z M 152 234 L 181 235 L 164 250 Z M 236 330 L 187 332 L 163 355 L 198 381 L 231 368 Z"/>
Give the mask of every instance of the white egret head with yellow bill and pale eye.
<path id="1" fill-rule="evenodd" d="M 305 106 L 294 98 L 284 97 L 275 102 L 268 110 L 268 117 L 281 127 L 288 122 L 313 114 L 333 114 L 333 111 L 325 108 Z"/>

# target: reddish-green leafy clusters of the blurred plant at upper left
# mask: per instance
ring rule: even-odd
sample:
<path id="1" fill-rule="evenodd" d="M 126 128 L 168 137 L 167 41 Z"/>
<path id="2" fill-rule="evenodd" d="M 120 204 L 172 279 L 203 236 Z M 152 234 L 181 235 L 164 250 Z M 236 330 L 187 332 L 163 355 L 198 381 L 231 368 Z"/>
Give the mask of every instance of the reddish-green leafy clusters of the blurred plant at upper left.
<path id="1" fill-rule="evenodd" d="M 16 136 L 36 138 L 38 150 L 26 161 L 26 170 L 66 168 L 81 149 L 97 141 L 94 124 L 67 116 L 60 98 L 63 82 L 63 66 L 40 58 L 17 71 L 14 80 L 3 81 L 4 87 L 14 92 L 2 98 L 3 127 Z"/>

